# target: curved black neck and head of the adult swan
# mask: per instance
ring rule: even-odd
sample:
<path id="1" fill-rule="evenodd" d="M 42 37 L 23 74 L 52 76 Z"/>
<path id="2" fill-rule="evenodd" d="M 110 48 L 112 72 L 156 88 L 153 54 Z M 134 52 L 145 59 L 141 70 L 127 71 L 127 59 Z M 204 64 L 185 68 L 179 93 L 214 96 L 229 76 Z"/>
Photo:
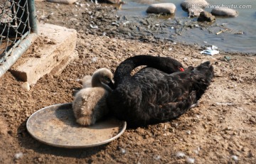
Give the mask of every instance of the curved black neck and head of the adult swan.
<path id="1" fill-rule="evenodd" d="M 117 70 L 114 73 L 115 86 L 117 86 L 117 84 L 122 82 L 122 80 L 131 78 L 132 70 L 134 70 L 134 68 L 140 65 L 147 65 L 148 67 L 154 67 L 166 73 L 176 72 L 178 71 L 178 67 L 182 67 L 180 62 L 171 58 L 156 57 L 156 56 L 150 56 L 150 55 L 137 55 L 132 58 L 128 58 L 127 60 L 124 60 L 117 67 Z"/>

